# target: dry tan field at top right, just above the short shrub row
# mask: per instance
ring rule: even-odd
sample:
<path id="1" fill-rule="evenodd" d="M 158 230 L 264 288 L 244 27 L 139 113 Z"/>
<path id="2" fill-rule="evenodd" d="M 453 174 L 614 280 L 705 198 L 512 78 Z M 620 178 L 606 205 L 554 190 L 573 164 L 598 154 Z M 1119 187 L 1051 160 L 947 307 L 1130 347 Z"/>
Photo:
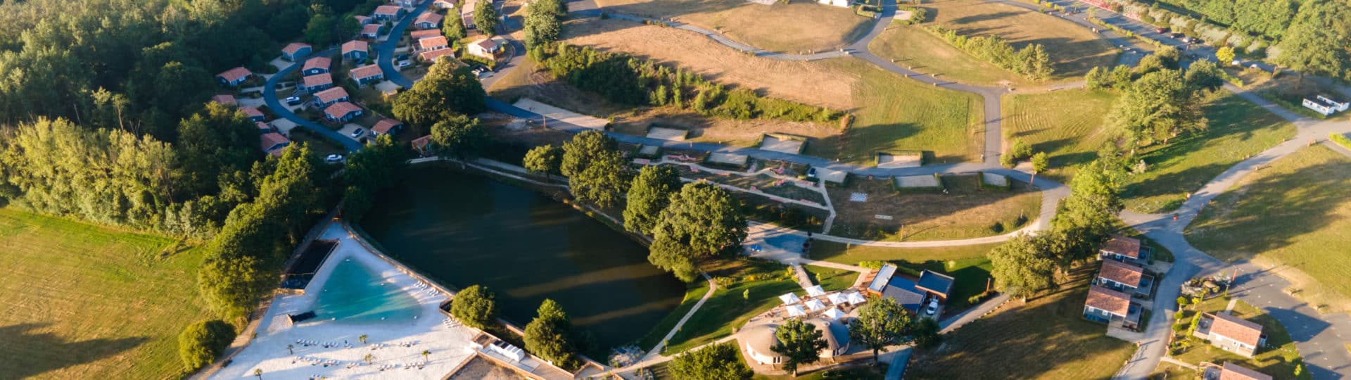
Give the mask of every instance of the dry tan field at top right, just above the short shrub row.
<path id="1" fill-rule="evenodd" d="M 1046 53 L 1051 57 L 1051 66 L 1055 69 L 1051 81 L 1081 77 L 1094 66 L 1116 65 L 1119 54 L 1116 47 L 1089 28 L 1055 16 L 984 0 L 935 0 L 924 1 L 921 7 L 928 9 L 931 20 L 925 24 L 939 24 L 969 37 L 998 35 L 1015 49 L 1021 49 L 1028 43 L 1046 46 Z M 934 42 L 950 47 L 942 39 L 934 39 Z M 917 53 L 916 57 L 923 55 L 934 55 L 934 53 Z M 940 62 L 943 61 L 938 61 L 938 64 Z M 989 68 L 1006 72 L 993 65 Z M 989 70 L 985 72 L 981 73 L 981 77 L 994 74 Z M 957 74 L 959 73 L 971 72 L 954 72 L 954 80 L 958 80 Z"/>

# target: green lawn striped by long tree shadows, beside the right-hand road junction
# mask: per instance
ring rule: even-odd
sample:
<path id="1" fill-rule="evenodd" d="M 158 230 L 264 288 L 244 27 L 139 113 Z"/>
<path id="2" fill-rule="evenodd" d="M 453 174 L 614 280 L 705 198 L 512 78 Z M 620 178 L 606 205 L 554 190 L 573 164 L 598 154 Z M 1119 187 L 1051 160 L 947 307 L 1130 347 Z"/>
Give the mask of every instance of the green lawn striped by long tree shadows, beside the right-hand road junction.
<path id="1" fill-rule="evenodd" d="M 1125 208 L 1138 212 L 1177 210 L 1194 192 L 1246 157 L 1294 137 L 1294 124 L 1229 92 L 1220 91 L 1205 105 L 1209 128 L 1167 145 L 1148 146 L 1148 165 L 1123 191 Z"/>

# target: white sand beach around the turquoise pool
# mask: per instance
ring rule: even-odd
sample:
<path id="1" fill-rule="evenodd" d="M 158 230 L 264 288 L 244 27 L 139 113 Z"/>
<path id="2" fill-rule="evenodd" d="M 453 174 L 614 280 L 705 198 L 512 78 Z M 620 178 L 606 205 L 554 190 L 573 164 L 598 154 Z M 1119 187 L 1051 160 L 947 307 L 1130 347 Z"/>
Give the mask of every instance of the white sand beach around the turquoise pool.
<path id="1" fill-rule="evenodd" d="M 338 239 L 339 245 L 305 288 L 307 295 L 277 296 L 258 326 L 258 337 L 234 357 L 230 366 L 212 375 L 212 379 L 255 379 L 254 369 L 262 369 L 265 379 L 309 379 L 312 376 L 326 376 L 327 379 L 444 379 L 451 369 L 473 356 L 471 342 L 478 333 L 463 326 L 449 327 L 443 325 L 446 316 L 438 311 L 438 306 L 446 300 L 446 295 L 417 288 L 416 279 L 404 275 L 374 253 L 367 252 L 339 223 L 330 224 L 323 238 Z M 286 314 L 313 310 L 315 298 L 322 292 L 324 283 L 330 280 L 328 276 L 334 266 L 349 258 L 366 265 L 389 284 L 407 289 L 422 307 L 417 318 L 378 323 L 311 319 L 288 327 Z M 332 280 L 340 281 L 342 279 Z M 357 337 L 362 334 L 367 335 L 366 345 L 357 341 Z M 307 348 L 296 343 L 296 339 L 336 342 L 338 346 Z M 343 348 L 343 341 L 351 343 L 351 348 Z M 416 343 L 400 346 L 399 342 Z M 389 346 L 373 350 L 370 343 Z M 286 352 L 286 345 L 295 346 L 295 354 Z M 405 366 L 422 364 L 423 350 L 430 350 L 431 354 L 428 356 L 430 361 L 422 369 L 380 371 L 380 365 L 388 364 L 404 364 Z M 367 353 L 374 357 L 373 365 L 362 362 Z M 296 361 L 296 356 L 339 360 L 345 364 L 311 365 L 305 361 Z M 362 362 L 362 365 L 347 368 L 347 364 L 357 362 Z"/>

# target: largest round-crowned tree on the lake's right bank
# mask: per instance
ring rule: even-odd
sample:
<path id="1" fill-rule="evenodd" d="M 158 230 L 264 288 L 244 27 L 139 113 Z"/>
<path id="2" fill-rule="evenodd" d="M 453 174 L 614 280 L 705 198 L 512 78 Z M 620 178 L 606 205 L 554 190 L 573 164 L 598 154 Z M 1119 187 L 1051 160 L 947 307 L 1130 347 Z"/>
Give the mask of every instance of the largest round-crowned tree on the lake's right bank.
<path id="1" fill-rule="evenodd" d="M 731 252 L 746 239 L 746 216 L 736 199 L 708 183 L 685 184 L 653 229 L 647 261 L 684 281 L 698 275 L 698 261 Z"/>

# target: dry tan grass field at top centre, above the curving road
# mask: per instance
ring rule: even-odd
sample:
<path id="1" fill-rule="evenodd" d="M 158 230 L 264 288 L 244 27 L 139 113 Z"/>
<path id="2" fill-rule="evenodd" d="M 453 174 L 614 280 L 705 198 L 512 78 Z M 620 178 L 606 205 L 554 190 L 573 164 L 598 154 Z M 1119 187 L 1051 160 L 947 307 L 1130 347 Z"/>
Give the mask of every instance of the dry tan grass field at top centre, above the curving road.
<path id="1" fill-rule="evenodd" d="M 607 11 L 669 18 L 715 30 L 770 51 L 823 51 L 848 45 L 873 26 L 850 8 L 794 1 L 761 5 L 743 0 L 597 0 Z"/>

